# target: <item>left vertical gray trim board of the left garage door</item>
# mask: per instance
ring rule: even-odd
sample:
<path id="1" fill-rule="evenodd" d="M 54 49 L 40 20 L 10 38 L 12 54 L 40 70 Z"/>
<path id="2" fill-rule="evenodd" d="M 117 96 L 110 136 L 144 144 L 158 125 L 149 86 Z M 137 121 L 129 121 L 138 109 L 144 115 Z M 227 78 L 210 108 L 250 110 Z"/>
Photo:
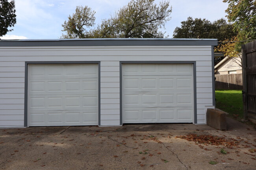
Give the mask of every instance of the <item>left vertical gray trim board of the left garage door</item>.
<path id="1" fill-rule="evenodd" d="M 28 127 L 28 63 L 25 62 L 24 127 Z"/>

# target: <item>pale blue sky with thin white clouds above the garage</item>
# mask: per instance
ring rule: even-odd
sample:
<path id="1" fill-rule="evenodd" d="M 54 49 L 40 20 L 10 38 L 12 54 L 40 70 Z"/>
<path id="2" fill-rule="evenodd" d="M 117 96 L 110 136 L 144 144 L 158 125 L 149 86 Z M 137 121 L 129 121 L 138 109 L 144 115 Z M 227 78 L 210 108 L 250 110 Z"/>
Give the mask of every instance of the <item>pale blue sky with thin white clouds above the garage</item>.
<path id="1" fill-rule="evenodd" d="M 155 0 L 158 4 L 160 1 Z M 211 22 L 226 19 L 223 0 L 170 0 L 171 20 L 165 24 L 165 37 L 173 37 L 173 31 L 187 17 L 206 18 Z M 62 33 L 61 24 L 75 12 L 76 6 L 91 7 L 96 12 L 95 23 L 109 18 L 130 0 L 15 0 L 17 23 L 1 39 L 58 39 Z"/>

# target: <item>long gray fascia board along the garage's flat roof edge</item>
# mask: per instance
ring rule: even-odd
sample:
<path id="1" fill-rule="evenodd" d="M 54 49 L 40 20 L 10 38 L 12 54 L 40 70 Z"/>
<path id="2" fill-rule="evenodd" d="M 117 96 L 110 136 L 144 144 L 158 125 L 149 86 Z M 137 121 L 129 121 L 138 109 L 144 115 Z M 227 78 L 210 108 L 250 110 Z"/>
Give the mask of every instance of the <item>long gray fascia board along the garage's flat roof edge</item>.
<path id="1" fill-rule="evenodd" d="M 52 40 L 0 40 L 0 47 L 217 46 L 217 43 L 217 39 L 196 38 L 91 38 Z"/>

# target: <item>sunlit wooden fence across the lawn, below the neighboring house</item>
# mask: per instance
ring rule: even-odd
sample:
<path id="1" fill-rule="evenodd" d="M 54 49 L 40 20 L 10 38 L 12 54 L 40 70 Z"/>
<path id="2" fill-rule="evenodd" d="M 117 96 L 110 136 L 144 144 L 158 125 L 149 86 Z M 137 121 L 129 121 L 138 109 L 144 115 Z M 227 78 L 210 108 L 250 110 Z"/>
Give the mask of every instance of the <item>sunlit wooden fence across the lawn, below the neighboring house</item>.
<path id="1" fill-rule="evenodd" d="M 215 75 L 215 89 L 242 90 L 242 74 Z"/>

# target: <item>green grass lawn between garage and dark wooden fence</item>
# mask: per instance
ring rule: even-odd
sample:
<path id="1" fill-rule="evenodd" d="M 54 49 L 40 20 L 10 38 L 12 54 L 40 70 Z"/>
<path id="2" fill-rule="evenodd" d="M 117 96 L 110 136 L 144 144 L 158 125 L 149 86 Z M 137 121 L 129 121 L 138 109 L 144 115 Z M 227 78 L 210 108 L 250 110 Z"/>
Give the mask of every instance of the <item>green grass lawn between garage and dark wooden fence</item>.
<path id="1" fill-rule="evenodd" d="M 242 90 L 215 90 L 215 97 L 217 108 L 235 119 L 243 119 Z"/>

